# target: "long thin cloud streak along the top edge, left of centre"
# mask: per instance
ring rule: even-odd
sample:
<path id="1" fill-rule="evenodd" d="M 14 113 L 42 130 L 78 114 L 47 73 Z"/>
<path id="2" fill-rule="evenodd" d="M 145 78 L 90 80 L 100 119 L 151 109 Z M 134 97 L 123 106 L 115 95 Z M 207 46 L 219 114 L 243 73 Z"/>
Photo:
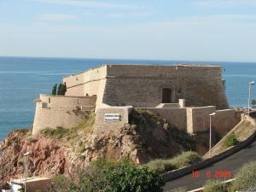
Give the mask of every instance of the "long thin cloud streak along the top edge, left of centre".
<path id="1" fill-rule="evenodd" d="M 69 6 L 80 6 L 86 8 L 101 8 L 101 9 L 140 9 L 137 5 L 118 4 L 118 3 L 102 3 L 98 1 L 84 0 L 40 0 L 42 3 L 62 4 Z"/>

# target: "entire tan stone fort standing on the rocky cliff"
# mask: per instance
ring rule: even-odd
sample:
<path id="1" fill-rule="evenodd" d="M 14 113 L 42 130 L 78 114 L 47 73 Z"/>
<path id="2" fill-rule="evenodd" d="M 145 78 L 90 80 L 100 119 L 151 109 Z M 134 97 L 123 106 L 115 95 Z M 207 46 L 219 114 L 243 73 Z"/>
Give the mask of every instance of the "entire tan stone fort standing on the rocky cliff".
<path id="1" fill-rule="evenodd" d="M 230 130 L 240 120 L 229 109 L 219 66 L 107 64 L 62 81 L 67 84 L 65 96 L 41 94 L 37 100 L 34 136 L 44 128 L 78 125 L 81 117 L 71 113 L 78 109 L 95 111 L 96 132 L 129 123 L 132 108 L 153 110 L 191 134 L 206 131 L 213 112 L 219 131 Z"/>

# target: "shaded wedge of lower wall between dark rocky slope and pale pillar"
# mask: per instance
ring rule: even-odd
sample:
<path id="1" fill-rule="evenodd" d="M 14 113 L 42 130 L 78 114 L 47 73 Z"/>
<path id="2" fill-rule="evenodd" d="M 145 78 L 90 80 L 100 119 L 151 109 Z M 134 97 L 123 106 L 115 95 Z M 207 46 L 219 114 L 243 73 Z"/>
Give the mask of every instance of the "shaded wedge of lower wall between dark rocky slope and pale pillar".
<path id="1" fill-rule="evenodd" d="M 158 113 L 168 123 L 175 125 L 178 129 L 187 130 L 186 108 L 143 108 Z"/>

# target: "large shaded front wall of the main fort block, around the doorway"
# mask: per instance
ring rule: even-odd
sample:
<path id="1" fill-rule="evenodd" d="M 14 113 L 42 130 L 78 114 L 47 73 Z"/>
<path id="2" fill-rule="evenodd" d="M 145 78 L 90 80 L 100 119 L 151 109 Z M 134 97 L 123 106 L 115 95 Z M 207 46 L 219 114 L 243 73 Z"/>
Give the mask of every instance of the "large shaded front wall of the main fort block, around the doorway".
<path id="1" fill-rule="evenodd" d="M 175 90 L 176 102 L 188 106 L 228 108 L 221 67 L 109 65 L 103 102 L 154 108 L 163 88 Z"/>

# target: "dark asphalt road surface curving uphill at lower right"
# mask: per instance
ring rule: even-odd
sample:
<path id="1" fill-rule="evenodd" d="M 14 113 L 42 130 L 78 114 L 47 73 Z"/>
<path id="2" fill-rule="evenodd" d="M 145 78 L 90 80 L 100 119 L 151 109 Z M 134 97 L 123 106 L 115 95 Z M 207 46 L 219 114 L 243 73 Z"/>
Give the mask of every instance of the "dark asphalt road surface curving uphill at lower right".
<path id="1" fill-rule="evenodd" d="M 207 171 L 212 173 L 212 177 L 214 178 L 214 172 L 217 171 L 231 171 L 232 176 L 234 177 L 234 173 L 245 163 L 250 160 L 256 160 L 256 139 L 254 139 L 253 143 L 248 145 L 246 148 L 242 148 L 236 154 L 231 155 L 230 157 L 218 161 L 217 163 L 212 164 L 211 166 L 199 170 L 200 176 L 195 178 L 192 177 L 192 173 L 189 175 L 185 175 L 183 177 L 178 177 L 170 182 L 167 182 L 164 191 L 169 192 L 173 189 L 177 189 L 178 187 L 187 187 L 187 189 L 197 189 L 200 188 L 206 183 L 207 179 Z M 223 178 L 223 179 L 230 179 Z"/>

